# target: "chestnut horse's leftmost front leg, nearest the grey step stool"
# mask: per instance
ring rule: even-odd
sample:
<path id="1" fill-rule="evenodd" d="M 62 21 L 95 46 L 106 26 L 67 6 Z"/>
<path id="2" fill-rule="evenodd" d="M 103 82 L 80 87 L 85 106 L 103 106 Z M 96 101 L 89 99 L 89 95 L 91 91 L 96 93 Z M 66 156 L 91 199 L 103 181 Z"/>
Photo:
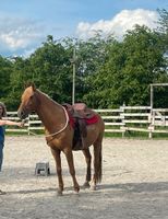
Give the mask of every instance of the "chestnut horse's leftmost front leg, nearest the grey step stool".
<path id="1" fill-rule="evenodd" d="M 51 153 L 52 153 L 55 161 L 56 161 L 56 170 L 57 170 L 58 184 L 59 184 L 58 195 L 62 195 L 63 180 L 62 180 L 62 168 L 61 168 L 61 155 L 60 155 L 61 151 L 58 150 L 58 149 L 51 148 Z"/>

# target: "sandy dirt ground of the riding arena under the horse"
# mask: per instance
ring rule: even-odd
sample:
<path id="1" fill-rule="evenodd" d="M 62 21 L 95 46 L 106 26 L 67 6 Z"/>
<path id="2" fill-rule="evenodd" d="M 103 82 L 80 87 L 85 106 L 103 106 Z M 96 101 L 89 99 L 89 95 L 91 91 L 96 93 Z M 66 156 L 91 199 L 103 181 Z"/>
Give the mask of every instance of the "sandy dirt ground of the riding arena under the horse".
<path id="1" fill-rule="evenodd" d="M 62 154 L 63 196 L 57 196 L 55 162 L 44 137 L 7 137 L 0 188 L 0 219 L 168 219 L 168 140 L 104 139 L 103 182 L 75 194 Z M 38 162 L 51 174 L 36 176 Z M 85 161 L 74 152 L 76 177 Z"/>

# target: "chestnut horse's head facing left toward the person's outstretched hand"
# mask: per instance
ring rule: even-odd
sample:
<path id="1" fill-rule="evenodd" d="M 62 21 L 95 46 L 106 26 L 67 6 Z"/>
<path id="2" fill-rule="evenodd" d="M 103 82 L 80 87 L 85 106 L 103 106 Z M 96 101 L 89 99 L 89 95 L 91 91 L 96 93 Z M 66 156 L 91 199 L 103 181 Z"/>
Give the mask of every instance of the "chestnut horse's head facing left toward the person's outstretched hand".
<path id="1" fill-rule="evenodd" d="M 26 88 L 22 94 L 21 104 L 17 110 L 17 116 L 21 119 L 24 119 L 28 116 L 29 113 L 36 111 L 37 101 L 36 101 L 36 88 L 34 84 Z"/>

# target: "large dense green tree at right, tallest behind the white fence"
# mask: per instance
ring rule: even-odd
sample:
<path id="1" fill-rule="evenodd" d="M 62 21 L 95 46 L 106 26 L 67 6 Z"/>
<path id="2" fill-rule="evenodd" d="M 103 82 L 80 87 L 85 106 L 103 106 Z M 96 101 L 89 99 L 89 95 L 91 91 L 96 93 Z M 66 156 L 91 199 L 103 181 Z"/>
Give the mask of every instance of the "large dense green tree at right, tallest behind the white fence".
<path id="1" fill-rule="evenodd" d="M 148 105 L 149 84 L 168 81 L 159 35 L 137 25 L 108 49 L 108 59 L 92 78 L 87 99 L 94 107 Z"/>

